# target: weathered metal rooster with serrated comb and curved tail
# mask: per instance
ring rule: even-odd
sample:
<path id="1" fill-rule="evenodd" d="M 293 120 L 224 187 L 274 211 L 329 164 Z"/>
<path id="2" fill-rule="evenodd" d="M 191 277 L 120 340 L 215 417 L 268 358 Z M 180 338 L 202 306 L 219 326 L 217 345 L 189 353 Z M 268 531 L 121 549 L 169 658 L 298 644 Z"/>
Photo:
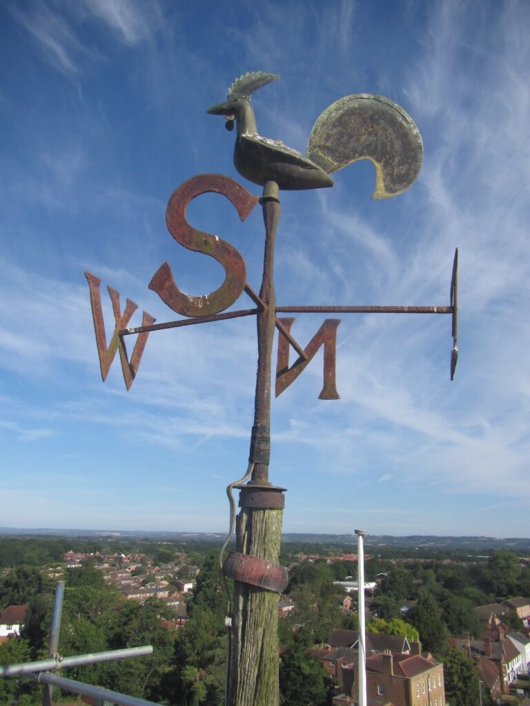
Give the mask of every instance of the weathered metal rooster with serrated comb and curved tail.
<path id="1" fill-rule="evenodd" d="M 208 108 L 225 117 L 228 130 L 237 126 L 234 164 L 254 184 L 275 181 L 279 189 L 322 189 L 333 186 L 331 172 L 357 160 L 371 160 L 376 169 L 373 198 L 389 198 L 408 189 L 420 171 L 423 144 L 418 128 L 403 108 L 369 93 L 349 95 L 329 106 L 317 119 L 307 157 L 280 140 L 258 133 L 251 98 L 254 91 L 280 78 L 255 71 L 240 76 L 228 100 Z"/>

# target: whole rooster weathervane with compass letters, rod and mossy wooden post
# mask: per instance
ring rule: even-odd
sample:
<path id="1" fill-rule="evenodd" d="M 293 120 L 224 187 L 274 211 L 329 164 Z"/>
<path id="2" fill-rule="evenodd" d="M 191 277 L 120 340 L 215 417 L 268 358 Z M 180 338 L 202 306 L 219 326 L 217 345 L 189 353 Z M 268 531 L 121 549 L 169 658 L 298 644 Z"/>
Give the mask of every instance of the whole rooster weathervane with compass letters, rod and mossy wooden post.
<path id="1" fill-rule="evenodd" d="M 291 334 L 294 318 L 278 313 L 450 313 L 453 348 L 451 379 L 457 364 L 457 255 L 455 251 L 449 306 L 276 306 L 273 258 L 276 229 L 280 219 L 281 190 L 322 189 L 333 186 L 332 172 L 357 160 L 375 165 L 376 188 L 373 198 L 389 198 L 408 189 L 418 176 L 423 144 L 410 116 L 391 100 L 367 93 L 349 95 L 336 101 L 317 119 L 310 134 L 307 156 L 281 141 L 264 138 L 258 132 L 252 94 L 277 80 L 276 74 L 257 71 L 237 78 L 228 90 L 228 100 L 208 109 L 223 116 L 225 126 L 237 128 L 234 164 L 242 177 L 263 187 L 261 198 L 222 174 L 192 177 L 172 194 L 167 205 L 166 223 L 172 237 L 185 248 L 211 256 L 223 266 L 225 280 L 215 292 L 198 297 L 185 294 L 177 286 L 169 263 L 153 275 L 149 289 L 176 313 L 186 317 L 155 324 L 145 311 L 142 325 L 127 328 L 136 304 L 127 299 L 123 313 L 119 294 L 108 287 L 114 311 L 114 333 L 107 347 L 100 300 L 100 280 L 86 273 L 90 287 L 96 342 L 102 378 L 105 381 L 116 352 L 122 363 L 126 388 L 134 381 L 143 349 L 151 331 L 184 325 L 222 321 L 240 316 L 257 318 L 257 383 L 254 426 L 250 441 L 249 468 L 245 477 L 229 486 L 232 508 L 230 537 L 235 524 L 232 488 L 240 493 L 241 513 L 237 525 L 237 551 L 224 564 L 224 573 L 235 579 L 234 620 L 230 624 L 227 703 L 230 706 L 274 706 L 278 703 L 278 593 L 287 583 L 286 570 L 278 565 L 283 491 L 269 481 L 271 361 L 274 331 L 278 329 L 276 397 L 302 373 L 317 350 L 324 345 L 324 383 L 320 399 L 338 399 L 335 380 L 336 330 L 339 319 L 322 323 L 310 343 L 302 348 Z M 227 241 L 189 225 L 186 210 L 201 194 L 219 193 L 229 199 L 240 220 L 261 204 L 265 224 L 264 267 L 257 294 L 248 284 L 245 261 Z M 254 308 L 225 311 L 245 292 Z M 222 313 L 225 312 L 225 313 Z M 129 357 L 125 337 L 138 334 Z M 289 365 L 290 347 L 298 359 Z M 245 481 L 249 481 L 245 484 Z"/>

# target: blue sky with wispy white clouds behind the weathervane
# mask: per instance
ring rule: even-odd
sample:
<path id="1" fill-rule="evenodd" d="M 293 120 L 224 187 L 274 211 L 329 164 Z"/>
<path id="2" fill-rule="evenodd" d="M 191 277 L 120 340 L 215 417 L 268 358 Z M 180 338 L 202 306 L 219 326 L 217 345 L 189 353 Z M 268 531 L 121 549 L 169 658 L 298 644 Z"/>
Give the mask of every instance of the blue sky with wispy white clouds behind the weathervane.
<path id="1" fill-rule="evenodd" d="M 246 71 L 279 73 L 261 134 L 305 152 L 317 116 L 385 95 L 423 136 L 416 184 L 371 201 L 360 162 L 333 189 L 282 194 L 278 304 L 449 304 L 449 316 L 343 316 L 338 401 L 322 351 L 272 404 L 271 480 L 287 532 L 528 537 L 530 5 L 319 0 L 1 3 L 0 524 L 218 531 L 252 426 L 253 318 L 153 333 L 129 392 L 100 379 L 83 270 L 158 322 L 164 261 L 185 292 L 223 281 L 165 228 L 196 174 L 245 182 L 206 108 Z M 196 227 L 234 245 L 259 289 L 259 208 L 202 196 Z M 247 308 L 242 296 L 235 308 Z M 302 345 L 325 316 L 297 318 Z M 129 344 L 130 347 L 130 344 Z M 276 354 L 276 347 L 275 347 Z"/>

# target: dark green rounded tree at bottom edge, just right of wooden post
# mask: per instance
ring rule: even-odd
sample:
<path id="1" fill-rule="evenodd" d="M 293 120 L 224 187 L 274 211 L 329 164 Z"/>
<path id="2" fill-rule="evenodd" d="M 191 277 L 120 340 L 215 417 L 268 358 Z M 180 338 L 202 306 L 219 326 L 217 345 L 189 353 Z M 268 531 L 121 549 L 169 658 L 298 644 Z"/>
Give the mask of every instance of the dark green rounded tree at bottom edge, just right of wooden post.
<path id="1" fill-rule="evenodd" d="M 290 647 L 281 658 L 280 700 L 285 706 L 326 705 L 326 671 L 298 645 Z"/>

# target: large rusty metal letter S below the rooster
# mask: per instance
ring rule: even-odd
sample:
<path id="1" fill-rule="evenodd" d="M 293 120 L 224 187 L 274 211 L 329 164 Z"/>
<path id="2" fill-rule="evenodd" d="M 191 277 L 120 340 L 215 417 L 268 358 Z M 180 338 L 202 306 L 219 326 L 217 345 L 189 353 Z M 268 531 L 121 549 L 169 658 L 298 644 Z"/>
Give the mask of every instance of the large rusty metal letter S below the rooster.
<path id="1" fill-rule="evenodd" d="M 226 196 L 235 206 L 242 221 L 258 203 L 256 196 L 223 174 L 199 174 L 198 177 L 184 181 L 184 184 L 173 192 L 165 214 L 170 234 L 184 248 L 204 253 L 217 260 L 226 275 L 225 281 L 215 292 L 191 297 L 175 284 L 170 264 L 163 263 L 153 275 L 149 289 L 153 289 L 170 309 L 182 316 L 208 316 L 228 309 L 240 296 L 247 279 L 245 261 L 235 247 L 216 235 L 192 227 L 187 222 L 186 210 L 189 202 L 204 193 L 220 193 Z"/>

